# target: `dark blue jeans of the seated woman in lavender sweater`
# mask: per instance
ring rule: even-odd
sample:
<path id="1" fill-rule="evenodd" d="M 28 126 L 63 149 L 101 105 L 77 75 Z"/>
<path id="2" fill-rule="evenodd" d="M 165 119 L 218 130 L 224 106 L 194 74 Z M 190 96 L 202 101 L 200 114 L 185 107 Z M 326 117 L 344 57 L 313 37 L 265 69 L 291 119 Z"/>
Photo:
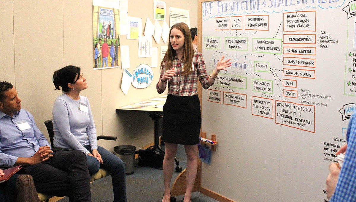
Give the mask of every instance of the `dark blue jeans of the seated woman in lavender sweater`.
<path id="1" fill-rule="evenodd" d="M 85 149 L 91 151 L 90 145 L 85 145 Z M 99 167 L 108 170 L 111 173 L 112 178 L 112 190 L 114 191 L 114 202 L 127 202 L 126 198 L 126 175 L 125 164 L 110 151 L 98 146 L 98 152 L 103 159 L 104 164 L 100 164 L 99 161 L 93 157 L 87 155 L 88 169 L 90 174 L 98 172 Z"/>

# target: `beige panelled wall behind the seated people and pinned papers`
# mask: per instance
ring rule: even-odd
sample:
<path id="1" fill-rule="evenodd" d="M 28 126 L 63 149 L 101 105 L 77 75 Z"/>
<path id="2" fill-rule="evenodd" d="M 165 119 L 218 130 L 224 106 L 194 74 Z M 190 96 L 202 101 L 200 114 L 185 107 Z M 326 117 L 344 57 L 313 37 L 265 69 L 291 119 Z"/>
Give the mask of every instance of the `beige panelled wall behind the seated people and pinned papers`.
<path id="1" fill-rule="evenodd" d="M 169 7 L 189 10 L 190 27 L 197 26 L 197 1 L 166 0 L 167 13 Z M 153 121 L 147 114 L 116 114 L 115 109 L 158 96 L 159 68 L 153 68 L 155 77 L 148 88 L 130 86 L 127 95 L 120 89 L 121 68 L 93 70 L 91 0 L 6 0 L 0 1 L 0 9 L 0 81 L 15 85 L 22 108 L 33 114 L 46 137 L 43 122 L 52 118 L 54 99 L 61 94 L 54 90 L 52 74 L 74 64 L 87 78 L 89 88 L 82 95 L 90 100 L 98 135 L 118 137 L 115 142 L 101 140 L 99 145 L 112 150 L 115 145 L 142 147 L 153 142 Z M 147 17 L 154 23 L 153 0 L 129 0 L 129 16 L 141 17 L 144 31 Z M 142 63 L 151 64 L 151 58 L 137 57 L 137 40 L 120 37 L 121 45 L 130 46 L 130 72 Z M 163 45 L 162 40 L 159 44 L 153 40 L 158 52 Z"/>

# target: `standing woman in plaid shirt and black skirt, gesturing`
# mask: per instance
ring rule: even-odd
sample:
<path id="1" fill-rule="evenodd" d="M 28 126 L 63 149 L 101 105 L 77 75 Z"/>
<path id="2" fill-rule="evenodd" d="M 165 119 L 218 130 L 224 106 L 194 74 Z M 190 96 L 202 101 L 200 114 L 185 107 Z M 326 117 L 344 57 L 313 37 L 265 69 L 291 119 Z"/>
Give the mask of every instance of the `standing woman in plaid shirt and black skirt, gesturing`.
<path id="1" fill-rule="evenodd" d="M 163 136 L 166 152 L 163 160 L 164 194 L 162 202 L 171 198 L 170 184 L 177 145 L 184 145 L 187 155 L 187 190 L 184 202 L 190 202 L 198 167 L 199 133 L 201 126 L 200 102 L 197 92 L 197 78 L 203 88 L 214 84 L 218 73 L 231 66 L 230 59 L 216 64 L 210 75 L 206 74 L 205 61 L 200 52 L 194 52 L 188 25 L 174 24 L 169 31 L 170 43 L 161 62 L 161 75 L 156 85 L 157 92 L 163 93 L 168 83 L 168 96 L 163 107 Z"/>

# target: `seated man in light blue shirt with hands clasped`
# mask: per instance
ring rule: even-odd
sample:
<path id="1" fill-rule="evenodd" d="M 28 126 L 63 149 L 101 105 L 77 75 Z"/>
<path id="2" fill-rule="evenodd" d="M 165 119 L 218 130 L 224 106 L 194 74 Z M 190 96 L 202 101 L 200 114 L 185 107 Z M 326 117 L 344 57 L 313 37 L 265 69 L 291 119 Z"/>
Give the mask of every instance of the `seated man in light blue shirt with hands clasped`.
<path id="1" fill-rule="evenodd" d="M 0 167 L 22 165 L 36 190 L 68 196 L 70 202 L 91 201 L 87 159 L 80 151 L 57 151 L 37 128 L 33 116 L 21 109 L 21 99 L 8 82 L 0 82 Z"/>

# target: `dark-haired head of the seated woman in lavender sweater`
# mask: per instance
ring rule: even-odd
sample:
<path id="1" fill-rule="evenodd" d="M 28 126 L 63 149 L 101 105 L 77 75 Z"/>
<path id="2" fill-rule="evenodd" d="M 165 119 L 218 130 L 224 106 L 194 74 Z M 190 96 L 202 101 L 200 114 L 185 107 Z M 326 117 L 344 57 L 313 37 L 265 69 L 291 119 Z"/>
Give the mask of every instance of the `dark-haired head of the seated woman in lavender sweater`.
<path id="1" fill-rule="evenodd" d="M 54 71 L 52 81 L 55 89 L 62 89 L 63 93 L 68 93 L 71 90 L 80 91 L 88 87 L 83 74 L 80 74 L 80 67 L 73 65 Z"/>

